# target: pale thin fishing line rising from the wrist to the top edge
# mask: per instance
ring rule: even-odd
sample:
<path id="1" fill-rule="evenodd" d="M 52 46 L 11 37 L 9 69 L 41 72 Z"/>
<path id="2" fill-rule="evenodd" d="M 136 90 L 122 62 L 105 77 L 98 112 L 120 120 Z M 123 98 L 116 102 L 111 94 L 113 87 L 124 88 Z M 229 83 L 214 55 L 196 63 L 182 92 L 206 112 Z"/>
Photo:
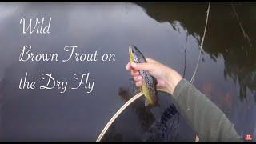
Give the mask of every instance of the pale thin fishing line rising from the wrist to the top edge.
<path id="1" fill-rule="evenodd" d="M 193 82 L 194 82 L 194 76 L 195 76 L 195 74 L 196 74 L 196 72 L 197 72 L 197 70 L 198 70 L 198 63 L 199 63 L 199 60 L 200 60 L 200 58 L 201 58 L 202 51 L 204 51 L 204 50 L 202 49 L 202 45 L 203 45 L 203 42 L 204 42 L 205 36 L 206 36 L 206 27 L 207 27 L 207 23 L 208 23 L 209 11 L 210 11 L 210 2 L 209 2 L 209 4 L 208 4 L 208 9 L 207 9 L 207 12 L 206 12 L 206 14 L 207 14 L 207 15 L 206 15 L 206 26 L 205 26 L 205 30 L 204 30 L 203 35 L 202 35 L 202 41 L 201 41 L 201 44 L 200 44 L 200 51 L 199 51 L 199 55 L 198 55 L 198 62 L 197 62 L 197 65 L 195 66 L 194 73 L 193 73 L 193 75 L 192 75 L 192 78 L 191 78 L 191 80 L 190 80 L 190 83 L 193 83 Z"/>

